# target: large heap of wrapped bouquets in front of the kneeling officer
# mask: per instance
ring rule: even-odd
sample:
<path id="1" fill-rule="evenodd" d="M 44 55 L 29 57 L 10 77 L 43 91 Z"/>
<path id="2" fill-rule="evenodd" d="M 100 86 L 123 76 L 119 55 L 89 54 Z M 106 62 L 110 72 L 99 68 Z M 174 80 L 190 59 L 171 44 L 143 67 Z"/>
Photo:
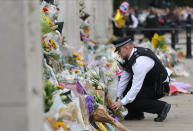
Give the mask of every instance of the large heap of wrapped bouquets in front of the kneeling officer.
<path id="1" fill-rule="evenodd" d="M 82 32 L 82 48 L 71 51 L 55 24 L 59 12 L 56 5 L 42 2 L 40 12 L 44 130 L 128 131 L 120 123 L 126 110 L 111 109 L 115 99 L 111 96 L 115 96 L 120 75 L 114 48 L 94 47 Z M 88 27 L 81 28 L 88 33 Z M 64 55 L 64 52 L 70 53 Z"/>

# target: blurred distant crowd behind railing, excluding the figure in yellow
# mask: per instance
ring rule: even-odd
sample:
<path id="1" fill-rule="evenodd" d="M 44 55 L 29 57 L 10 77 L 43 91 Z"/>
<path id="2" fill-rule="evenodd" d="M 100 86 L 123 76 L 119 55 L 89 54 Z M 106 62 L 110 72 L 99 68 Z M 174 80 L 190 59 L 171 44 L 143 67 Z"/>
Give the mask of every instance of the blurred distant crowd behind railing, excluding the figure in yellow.
<path id="1" fill-rule="evenodd" d="M 178 7 L 175 9 L 157 9 L 151 8 L 150 10 L 138 10 L 136 8 L 131 9 L 131 12 L 136 15 L 141 26 L 148 24 L 148 16 L 151 13 L 157 15 L 156 22 L 159 26 L 171 26 L 172 23 L 184 24 L 187 21 L 191 22 L 193 18 L 193 8 L 190 7 Z"/>

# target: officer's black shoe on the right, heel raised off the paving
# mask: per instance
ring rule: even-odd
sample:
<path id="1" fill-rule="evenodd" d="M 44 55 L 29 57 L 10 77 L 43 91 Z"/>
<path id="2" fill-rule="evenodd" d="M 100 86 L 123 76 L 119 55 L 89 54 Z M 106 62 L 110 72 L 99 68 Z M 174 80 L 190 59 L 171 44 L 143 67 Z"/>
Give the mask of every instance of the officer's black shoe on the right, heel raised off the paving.
<path id="1" fill-rule="evenodd" d="M 154 119 L 155 122 L 162 122 L 166 119 L 168 112 L 170 111 L 171 104 L 165 104 L 162 112 L 158 114 L 158 117 Z"/>

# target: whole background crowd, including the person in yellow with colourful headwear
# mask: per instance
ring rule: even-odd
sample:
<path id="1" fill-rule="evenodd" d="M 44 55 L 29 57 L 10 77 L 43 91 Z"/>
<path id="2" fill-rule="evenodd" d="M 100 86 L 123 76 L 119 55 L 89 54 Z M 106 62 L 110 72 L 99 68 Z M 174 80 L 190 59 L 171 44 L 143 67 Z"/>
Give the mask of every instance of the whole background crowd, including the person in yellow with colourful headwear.
<path id="1" fill-rule="evenodd" d="M 118 19 L 118 16 L 119 17 Z M 132 16 L 132 17 L 131 17 Z M 122 25 L 120 26 L 120 20 Z M 134 33 L 137 28 L 168 28 L 168 27 L 182 27 L 185 24 L 193 23 L 193 8 L 190 7 L 176 7 L 174 9 L 154 8 L 138 9 L 137 7 L 130 7 L 129 3 L 124 2 L 120 8 L 113 14 L 113 31 L 117 37 L 131 35 L 134 39 Z M 132 28 L 131 28 L 132 27 Z M 141 32 L 144 37 L 151 40 L 155 31 Z M 164 32 L 160 32 L 164 33 Z"/>

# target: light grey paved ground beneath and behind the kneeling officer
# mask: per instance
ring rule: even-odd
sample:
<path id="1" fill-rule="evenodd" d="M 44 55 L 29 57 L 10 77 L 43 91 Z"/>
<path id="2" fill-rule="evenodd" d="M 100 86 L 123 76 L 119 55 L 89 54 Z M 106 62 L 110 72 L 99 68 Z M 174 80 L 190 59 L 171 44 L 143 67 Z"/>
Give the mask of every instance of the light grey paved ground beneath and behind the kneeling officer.
<path id="1" fill-rule="evenodd" d="M 181 46 L 185 50 L 185 46 Z M 193 59 L 182 59 L 190 77 L 177 77 L 177 82 L 191 84 L 193 91 Z M 164 122 L 154 122 L 154 114 L 145 113 L 145 119 L 140 121 L 123 121 L 131 131 L 193 131 L 193 95 L 180 94 L 164 97 L 162 100 L 172 104 L 171 110 Z"/>

